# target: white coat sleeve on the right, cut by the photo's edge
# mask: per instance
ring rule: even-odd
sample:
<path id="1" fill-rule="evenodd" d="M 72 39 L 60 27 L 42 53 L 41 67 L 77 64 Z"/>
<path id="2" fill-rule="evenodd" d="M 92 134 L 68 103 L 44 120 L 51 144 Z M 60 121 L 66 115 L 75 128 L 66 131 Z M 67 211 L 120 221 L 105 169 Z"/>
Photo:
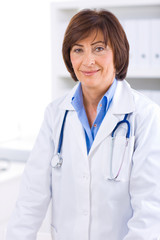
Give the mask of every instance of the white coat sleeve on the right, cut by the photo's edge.
<path id="1" fill-rule="evenodd" d="M 129 189 L 133 215 L 123 240 L 160 239 L 160 109 L 154 104 L 142 109 L 136 113 Z"/>

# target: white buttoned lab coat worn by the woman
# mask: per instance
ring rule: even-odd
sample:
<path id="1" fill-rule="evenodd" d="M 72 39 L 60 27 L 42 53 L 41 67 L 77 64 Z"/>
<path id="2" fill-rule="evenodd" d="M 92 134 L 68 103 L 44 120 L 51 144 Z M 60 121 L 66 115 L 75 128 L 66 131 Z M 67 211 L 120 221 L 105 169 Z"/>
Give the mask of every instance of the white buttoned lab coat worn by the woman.
<path id="1" fill-rule="evenodd" d="M 75 88 L 51 103 L 28 160 L 7 240 L 35 240 L 52 201 L 54 240 L 158 240 L 160 237 L 160 109 L 118 81 L 114 99 L 87 155 L 85 134 L 71 105 Z M 60 169 L 52 167 L 68 109 Z M 117 181 L 110 177 L 111 132 L 129 113 L 131 137 Z M 113 173 L 125 143 L 115 139 Z"/>

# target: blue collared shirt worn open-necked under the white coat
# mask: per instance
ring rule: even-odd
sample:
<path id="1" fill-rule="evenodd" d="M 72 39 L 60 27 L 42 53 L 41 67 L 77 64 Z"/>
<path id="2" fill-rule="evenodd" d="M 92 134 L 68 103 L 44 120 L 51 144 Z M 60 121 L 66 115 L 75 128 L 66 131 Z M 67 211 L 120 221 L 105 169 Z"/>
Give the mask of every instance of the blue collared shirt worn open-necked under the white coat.
<path id="1" fill-rule="evenodd" d="M 103 121 L 103 118 L 105 117 L 110 104 L 112 102 L 115 90 L 117 86 L 117 80 L 115 79 L 111 85 L 111 87 L 108 89 L 108 91 L 104 94 L 102 99 L 99 101 L 97 106 L 97 116 L 96 119 L 90 128 L 88 118 L 86 115 L 86 111 L 83 105 L 83 96 L 82 96 L 82 87 L 81 83 L 79 83 L 78 88 L 72 97 L 72 105 L 74 109 L 77 112 L 78 118 L 84 128 L 85 137 L 86 137 L 86 145 L 87 145 L 87 153 L 89 153 L 90 148 L 93 144 L 93 141 L 96 137 L 96 134 L 98 132 L 98 129 Z"/>

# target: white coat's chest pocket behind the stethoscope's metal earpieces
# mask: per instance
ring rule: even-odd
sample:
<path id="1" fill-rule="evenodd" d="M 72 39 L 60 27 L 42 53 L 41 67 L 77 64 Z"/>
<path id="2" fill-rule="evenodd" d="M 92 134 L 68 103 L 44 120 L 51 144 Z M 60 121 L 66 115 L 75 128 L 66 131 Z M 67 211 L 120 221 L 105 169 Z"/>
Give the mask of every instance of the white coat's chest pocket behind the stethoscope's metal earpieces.
<path id="1" fill-rule="evenodd" d="M 110 139 L 110 156 L 108 159 L 107 179 L 112 181 L 129 181 L 134 151 L 134 136 L 116 136 Z"/>

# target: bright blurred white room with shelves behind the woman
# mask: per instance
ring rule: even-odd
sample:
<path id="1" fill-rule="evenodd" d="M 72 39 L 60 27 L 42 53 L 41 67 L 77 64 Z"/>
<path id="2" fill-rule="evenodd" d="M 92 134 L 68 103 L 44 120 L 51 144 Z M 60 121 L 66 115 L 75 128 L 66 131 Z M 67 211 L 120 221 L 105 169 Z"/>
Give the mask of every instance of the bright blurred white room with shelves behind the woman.
<path id="1" fill-rule="evenodd" d="M 127 81 L 160 105 L 160 0 L 0 0 L 0 239 L 49 102 L 75 82 L 61 45 L 70 18 L 83 8 L 105 8 L 130 43 Z M 38 234 L 49 240 L 50 211 Z"/>

